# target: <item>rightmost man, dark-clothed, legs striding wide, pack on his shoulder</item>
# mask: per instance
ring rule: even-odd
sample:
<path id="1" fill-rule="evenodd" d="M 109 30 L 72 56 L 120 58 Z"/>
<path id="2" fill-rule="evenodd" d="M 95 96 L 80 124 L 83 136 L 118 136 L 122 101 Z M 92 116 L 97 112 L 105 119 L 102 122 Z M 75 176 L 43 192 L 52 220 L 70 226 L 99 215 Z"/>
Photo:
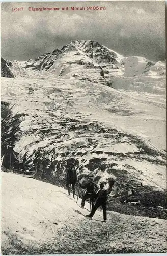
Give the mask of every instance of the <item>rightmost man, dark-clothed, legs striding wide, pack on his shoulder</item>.
<path id="1" fill-rule="evenodd" d="M 92 219 L 92 217 L 95 214 L 95 211 L 101 206 L 102 209 L 103 209 L 104 222 L 106 222 L 106 220 L 107 220 L 106 203 L 107 203 L 108 195 L 112 191 L 112 187 L 113 187 L 114 183 L 115 183 L 114 180 L 109 181 L 109 188 L 108 189 L 104 188 L 104 183 L 100 183 L 100 190 L 96 194 L 97 195 L 96 204 L 92 208 L 91 213 L 89 215 L 87 215 L 87 217 Z"/>

